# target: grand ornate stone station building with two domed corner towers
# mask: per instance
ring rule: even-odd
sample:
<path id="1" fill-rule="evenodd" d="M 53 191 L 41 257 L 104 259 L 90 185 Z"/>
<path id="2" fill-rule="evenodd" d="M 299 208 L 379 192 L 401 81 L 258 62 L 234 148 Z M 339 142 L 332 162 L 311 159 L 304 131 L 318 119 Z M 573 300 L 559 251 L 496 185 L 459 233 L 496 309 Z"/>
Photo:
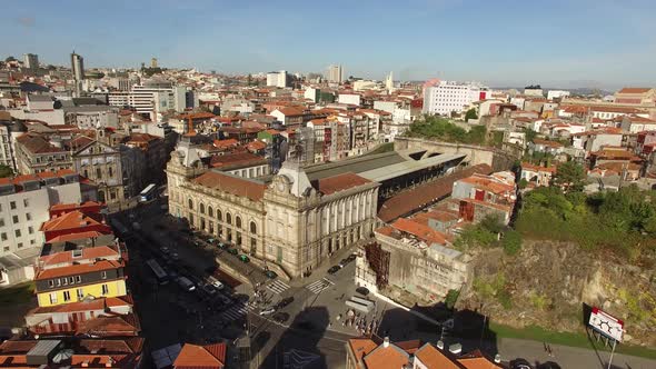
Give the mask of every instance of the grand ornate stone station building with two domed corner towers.
<path id="1" fill-rule="evenodd" d="M 183 164 L 182 151 L 171 157 L 167 166 L 170 213 L 265 263 L 278 265 L 291 278 L 372 236 L 377 182 L 351 173 L 310 183 L 291 160 L 265 183 L 210 170 L 202 160 Z M 206 179 L 211 176 L 223 183 L 208 186 Z"/>

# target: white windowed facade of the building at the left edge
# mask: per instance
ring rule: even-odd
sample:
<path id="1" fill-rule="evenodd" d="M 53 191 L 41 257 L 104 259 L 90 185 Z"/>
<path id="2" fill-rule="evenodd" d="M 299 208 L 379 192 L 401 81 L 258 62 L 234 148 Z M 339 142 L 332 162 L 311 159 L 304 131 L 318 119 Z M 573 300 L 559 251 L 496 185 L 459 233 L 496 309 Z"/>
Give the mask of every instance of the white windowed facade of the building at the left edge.
<path id="1" fill-rule="evenodd" d="M 0 196 L 0 257 L 41 247 L 43 233 L 40 229 L 50 219 L 50 206 L 81 200 L 78 182 Z"/>

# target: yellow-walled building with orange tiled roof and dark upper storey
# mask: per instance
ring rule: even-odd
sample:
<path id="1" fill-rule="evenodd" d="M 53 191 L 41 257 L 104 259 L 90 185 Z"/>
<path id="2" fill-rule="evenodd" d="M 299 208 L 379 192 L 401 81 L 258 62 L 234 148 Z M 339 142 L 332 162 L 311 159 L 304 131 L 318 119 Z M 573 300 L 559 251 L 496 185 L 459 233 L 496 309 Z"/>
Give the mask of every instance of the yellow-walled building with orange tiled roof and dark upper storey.
<path id="1" fill-rule="evenodd" d="M 77 302 L 88 297 L 125 296 L 123 268 L 121 260 L 100 260 L 41 270 L 34 278 L 39 306 Z"/>

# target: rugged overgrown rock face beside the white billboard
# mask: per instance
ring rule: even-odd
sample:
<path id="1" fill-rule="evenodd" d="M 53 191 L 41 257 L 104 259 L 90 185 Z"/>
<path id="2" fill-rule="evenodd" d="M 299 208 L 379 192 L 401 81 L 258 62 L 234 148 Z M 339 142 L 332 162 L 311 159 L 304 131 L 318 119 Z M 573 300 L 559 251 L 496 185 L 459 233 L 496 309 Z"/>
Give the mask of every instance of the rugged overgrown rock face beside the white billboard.
<path id="1" fill-rule="evenodd" d="M 645 261 L 643 261 L 645 262 Z M 656 346 L 656 275 L 604 251 L 571 243 L 524 241 L 520 255 L 501 250 L 475 253 L 473 276 L 459 307 L 480 307 L 494 320 L 514 327 L 582 331 L 583 303 L 625 321 L 625 338 Z M 496 282 L 494 282 L 496 281 Z"/>

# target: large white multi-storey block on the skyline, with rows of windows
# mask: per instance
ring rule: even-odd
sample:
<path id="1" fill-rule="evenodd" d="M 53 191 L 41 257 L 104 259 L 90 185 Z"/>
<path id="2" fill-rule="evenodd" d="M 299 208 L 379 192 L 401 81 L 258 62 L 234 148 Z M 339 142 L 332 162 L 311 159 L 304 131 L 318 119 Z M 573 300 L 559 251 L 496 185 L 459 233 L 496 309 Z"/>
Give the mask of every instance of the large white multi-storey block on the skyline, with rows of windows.
<path id="1" fill-rule="evenodd" d="M 448 116 L 490 96 L 489 89 L 479 83 L 431 80 L 424 84 L 424 112 Z"/>

